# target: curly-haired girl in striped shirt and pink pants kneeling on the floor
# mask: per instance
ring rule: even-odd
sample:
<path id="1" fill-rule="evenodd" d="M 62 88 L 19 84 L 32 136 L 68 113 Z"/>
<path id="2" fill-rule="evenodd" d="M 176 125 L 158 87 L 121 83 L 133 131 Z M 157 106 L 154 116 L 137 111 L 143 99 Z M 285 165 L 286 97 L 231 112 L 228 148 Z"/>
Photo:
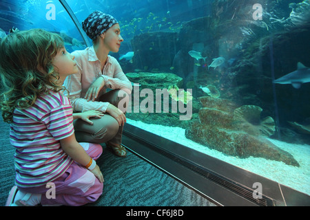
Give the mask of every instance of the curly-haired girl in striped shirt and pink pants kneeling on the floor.
<path id="1" fill-rule="evenodd" d="M 74 56 L 59 35 L 37 29 L 6 36 L 0 57 L 1 79 L 8 87 L 2 115 L 11 124 L 10 142 L 16 148 L 16 186 L 6 205 L 81 206 L 96 201 L 103 190 L 95 162 L 102 148 L 76 142 L 72 107 L 62 94 L 65 77 L 78 72 Z M 100 114 L 78 116 L 87 120 Z M 47 196 L 48 190 L 55 196 Z"/>

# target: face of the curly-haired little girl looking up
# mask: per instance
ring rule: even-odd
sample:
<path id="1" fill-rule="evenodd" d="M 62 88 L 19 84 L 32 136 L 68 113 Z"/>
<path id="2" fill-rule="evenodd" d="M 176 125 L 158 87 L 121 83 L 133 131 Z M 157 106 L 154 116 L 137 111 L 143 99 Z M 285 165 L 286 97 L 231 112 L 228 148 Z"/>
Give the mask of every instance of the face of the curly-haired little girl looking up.
<path id="1" fill-rule="evenodd" d="M 65 47 L 58 50 L 56 56 L 52 60 L 52 64 L 56 72 L 59 73 L 62 83 L 67 76 L 76 74 L 79 71 L 76 61 L 74 61 L 74 56 L 67 52 Z"/>

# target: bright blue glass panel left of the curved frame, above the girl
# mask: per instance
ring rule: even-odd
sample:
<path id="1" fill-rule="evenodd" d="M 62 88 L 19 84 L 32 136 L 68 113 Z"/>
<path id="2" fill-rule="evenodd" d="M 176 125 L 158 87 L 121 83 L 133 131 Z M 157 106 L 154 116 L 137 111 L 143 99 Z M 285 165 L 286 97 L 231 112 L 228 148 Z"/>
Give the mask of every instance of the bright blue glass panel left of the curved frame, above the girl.
<path id="1" fill-rule="evenodd" d="M 85 43 L 67 11 L 59 1 L 1 1 L 1 32 L 11 28 L 43 28 L 60 34 L 69 52 L 82 50 Z"/>

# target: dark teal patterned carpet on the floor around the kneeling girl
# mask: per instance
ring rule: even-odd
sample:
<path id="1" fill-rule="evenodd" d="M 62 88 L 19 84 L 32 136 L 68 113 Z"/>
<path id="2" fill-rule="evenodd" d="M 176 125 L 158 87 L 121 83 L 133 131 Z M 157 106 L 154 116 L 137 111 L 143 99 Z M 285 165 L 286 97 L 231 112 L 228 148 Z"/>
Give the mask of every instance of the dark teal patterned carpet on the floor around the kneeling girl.
<path id="1" fill-rule="evenodd" d="M 0 206 L 14 185 L 14 148 L 9 125 L 0 119 Z M 133 153 L 116 157 L 105 148 L 97 164 L 103 171 L 103 195 L 87 206 L 215 206 Z"/>

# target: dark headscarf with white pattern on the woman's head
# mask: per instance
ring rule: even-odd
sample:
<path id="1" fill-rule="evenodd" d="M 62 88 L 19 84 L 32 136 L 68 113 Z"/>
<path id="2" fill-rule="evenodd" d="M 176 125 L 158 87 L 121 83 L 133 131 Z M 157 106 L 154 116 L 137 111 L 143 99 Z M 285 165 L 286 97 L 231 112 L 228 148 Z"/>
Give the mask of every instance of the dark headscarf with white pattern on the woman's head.
<path id="1" fill-rule="evenodd" d="M 85 19 L 85 21 L 82 22 L 82 26 L 87 36 L 94 41 L 97 36 L 111 28 L 116 23 L 118 22 L 110 14 L 94 11 Z"/>

